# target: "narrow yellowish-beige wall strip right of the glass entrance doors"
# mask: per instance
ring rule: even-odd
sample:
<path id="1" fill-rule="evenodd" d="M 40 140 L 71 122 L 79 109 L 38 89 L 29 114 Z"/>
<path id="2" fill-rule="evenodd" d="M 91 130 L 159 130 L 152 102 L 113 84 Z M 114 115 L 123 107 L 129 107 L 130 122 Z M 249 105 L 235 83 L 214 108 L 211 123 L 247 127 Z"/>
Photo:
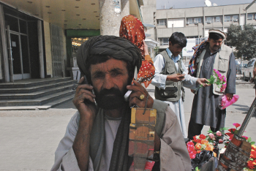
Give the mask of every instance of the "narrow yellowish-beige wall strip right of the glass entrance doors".
<path id="1" fill-rule="evenodd" d="M 44 21 L 44 31 L 45 31 L 45 58 L 46 58 L 46 73 L 53 77 L 53 62 L 51 56 L 51 46 L 50 46 L 50 24 Z"/>

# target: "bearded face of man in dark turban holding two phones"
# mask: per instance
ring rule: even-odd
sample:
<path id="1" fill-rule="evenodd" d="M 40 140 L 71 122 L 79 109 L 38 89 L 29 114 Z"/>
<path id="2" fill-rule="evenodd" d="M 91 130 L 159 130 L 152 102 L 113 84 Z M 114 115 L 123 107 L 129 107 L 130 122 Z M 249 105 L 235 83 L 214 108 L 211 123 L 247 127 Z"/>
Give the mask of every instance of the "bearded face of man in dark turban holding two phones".
<path id="1" fill-rule="evenodd" d="M 127 63 L 110 58 L 104 63 L 91 65 L 90 71 L 99 107 L 106 110 L 121 107 L 129 80 Z"/>

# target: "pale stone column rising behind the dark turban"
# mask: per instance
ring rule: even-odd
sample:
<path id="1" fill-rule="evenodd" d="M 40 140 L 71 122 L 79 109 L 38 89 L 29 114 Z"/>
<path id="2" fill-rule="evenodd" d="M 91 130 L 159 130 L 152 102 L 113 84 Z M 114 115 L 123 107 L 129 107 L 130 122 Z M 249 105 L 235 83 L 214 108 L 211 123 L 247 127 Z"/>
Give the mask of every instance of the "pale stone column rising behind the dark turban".
<path id="1" fill-rule="evenodd" d="M 119 36 L 121 18 L 129 15 L 129 0 L 119 0 L 120 12 L 113 0 L 99 0 L 99 24 L 101 35 Z M 115 11 L 116 9 L 116 11 Z"/>

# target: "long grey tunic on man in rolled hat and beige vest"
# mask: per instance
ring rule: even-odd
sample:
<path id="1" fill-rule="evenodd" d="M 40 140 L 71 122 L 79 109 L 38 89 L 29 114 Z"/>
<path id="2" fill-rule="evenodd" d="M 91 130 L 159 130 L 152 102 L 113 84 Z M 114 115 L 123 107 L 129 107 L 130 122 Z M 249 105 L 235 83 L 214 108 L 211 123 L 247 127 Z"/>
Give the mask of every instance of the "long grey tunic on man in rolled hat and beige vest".
<path id="1" fill-rule="evenodd" d="M 218 51 L 218 50 L 217 50 Z M 208 46 L 201 66 L 200 78 L 209 79 L 214 70 L 214 59 L 217 52 L 211 54 Z M 227 88 L 225 94 L 236 94 L 236 63 L 233 53 L 230 54 L 229 69 L 227 72 Z M 197 91 L 192 104 L 190 120 L 195 123 L 217 128 L 217 121 L 220 119 L 221 127 L 225 124 L 226 110 L 218 107 L 219 96 L 213 94 L 213 86 L 203 87 Z M 218 126 L 219 127 L 219 126 Z"/>

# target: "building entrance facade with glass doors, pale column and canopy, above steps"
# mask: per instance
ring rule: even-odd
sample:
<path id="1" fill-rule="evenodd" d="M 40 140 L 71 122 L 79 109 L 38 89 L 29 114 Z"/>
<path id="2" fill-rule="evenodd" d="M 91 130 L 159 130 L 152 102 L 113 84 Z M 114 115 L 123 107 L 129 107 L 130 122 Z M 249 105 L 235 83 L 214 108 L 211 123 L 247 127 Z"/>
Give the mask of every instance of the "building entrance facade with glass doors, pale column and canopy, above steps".
<path id="1" fill-rule="evenodd" d="M 141 18 L 143 0 L 0 0 L 0 83 L 69 77 L 89 37 L 118 36 L 121 18 Z"/>

